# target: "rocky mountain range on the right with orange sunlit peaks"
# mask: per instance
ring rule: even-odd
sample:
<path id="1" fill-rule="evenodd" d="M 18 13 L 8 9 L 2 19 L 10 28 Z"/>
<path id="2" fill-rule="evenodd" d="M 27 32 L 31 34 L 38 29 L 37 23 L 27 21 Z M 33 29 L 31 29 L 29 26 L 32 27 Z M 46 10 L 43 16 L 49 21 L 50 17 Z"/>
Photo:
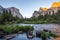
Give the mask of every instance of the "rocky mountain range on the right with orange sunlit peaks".
<path id="1" fill-rule="evenodd" d="M 54 2 L 50 8 L 40 7 L 37 12 L 34 12 L 32 16 L 38 17 L 39 15 L 52 15 L 60 10 L 60 2 Z M 39 14 L 40 13 L 40 14 Z"/>

